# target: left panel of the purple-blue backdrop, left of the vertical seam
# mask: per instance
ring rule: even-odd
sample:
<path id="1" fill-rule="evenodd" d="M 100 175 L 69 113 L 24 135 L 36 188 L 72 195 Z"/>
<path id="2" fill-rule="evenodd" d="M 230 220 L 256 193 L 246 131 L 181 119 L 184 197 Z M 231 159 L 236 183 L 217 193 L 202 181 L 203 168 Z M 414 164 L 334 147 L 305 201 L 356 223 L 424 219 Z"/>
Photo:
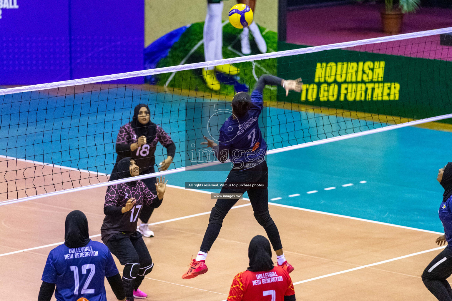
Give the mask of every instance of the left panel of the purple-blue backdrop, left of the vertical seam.
<path id="1" fill-rule="evenodd" d="M 1 9 L 0 85 L 70 79 L 68 2 L 16 3 L 16 9 Z"/>

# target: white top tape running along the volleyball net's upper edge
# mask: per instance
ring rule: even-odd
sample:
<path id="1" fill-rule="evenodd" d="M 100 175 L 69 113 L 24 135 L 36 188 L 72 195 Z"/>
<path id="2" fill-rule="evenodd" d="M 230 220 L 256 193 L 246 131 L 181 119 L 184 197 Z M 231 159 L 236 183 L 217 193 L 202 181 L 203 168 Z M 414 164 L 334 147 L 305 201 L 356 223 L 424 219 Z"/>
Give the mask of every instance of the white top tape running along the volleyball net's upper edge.
<path id="1" fill-rule="evenodd" d="M 42 89 L 63 88 L 63 87 L 70 87 L 70 86 L 76 86 L 76 85 L 88 84 L 88 83 L 99 83 L 99 82 L 106 82 L 106 81 L 111 81 L 111 80 L 116 80 L 116 79 L 127 79 L 127 78 L 138 77 L 138 76 L 169 73 L 169 72 L 176 72 L 176 71 L 182 71 L 182 70 L 188 70 L 188 69 L 206 68 L 206 67 L 224 65 L 224 64 L 234 64 L 234 63 L 240 63 L 240 62 L 251 61 L 251 60 L 272 59 L 272 58 L 276 58 L 276 57 L 293 56 L 293 55 L 312 53 L 312 52 L 323 51 L 323 50 L 340 49 L 340 48 L 348 48 L 348 47 L 360 46 L 360 45 L 366 45 L 366 44 L 376 44 L 376 43 L 382 43 L 382 42 L 399 41 L 399 40 L 410 39 L 410 38 L 415 38 L 415 37 L 428 37 L 428 36 L 438 35 L 441 33 L 447 33 L 447 32 L 451 32 L 451 31 L 452 31 L 452 27 L 447 27 L 447 28 L 426 30 L 426 31 L 421 31 L 421 32 L 404 33 L 404 34 L 398 34 L 398 35 L 387 36 L 387 37 L 376 37 L 376 38 L 372 38 L 372 39 L 364 39 L 364 40 L 352 41 L 352 42 L 343 42 L 343 43 L 306 47 L 306 48 L 299 48 L 299 49 L 278 51 L 278 52 L 268 52 L 268 53 L 253 55 L 253 56 L 235 57 L 235 58 L 224 59 L 224 60 L 212 60 L 212 61 L 208 61 L 208 62 L 187 64 L 187 65 L 177 65 L 177 66 L 170 66 L 170 67 L 164 67 L 164 68 L 156 68 L 156 69 L 132 71 L 132 72 L 126 72 L 126 73 L 119 73 L 119 74 L 95 76 L 95 77 L 85 78 L 85 79 L 71 79 L 71 80 L 55 82 L 55 83 L 43 83 L 43 84 L 38 84 L 38 85 L 7 88 L 7 89 L 1 89 L 0 95 L 21 93 L 21 92 L 30 92 L 30 91 L 37 91 L 37 90 L 42 90 Z"/>

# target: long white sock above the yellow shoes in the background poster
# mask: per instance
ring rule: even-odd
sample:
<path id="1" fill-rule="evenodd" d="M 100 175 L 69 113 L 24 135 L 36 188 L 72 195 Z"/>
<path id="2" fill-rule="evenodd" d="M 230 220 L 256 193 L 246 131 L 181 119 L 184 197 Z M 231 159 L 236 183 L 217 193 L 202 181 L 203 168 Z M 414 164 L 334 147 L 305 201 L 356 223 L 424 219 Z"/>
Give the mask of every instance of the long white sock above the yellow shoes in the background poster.
<path id="1" fill-rule="evenodd" d="M 208 3 L 206 22 L 204 23 L 203 39 L 204 39 L 204 59 L 221 60 L 218 54 L 221 55 L 223 47 L 223 28 L 221 27 L 221 13 L 223 11 L 223 1 L 220 3 Z M 219 49 L 218 49 L 219 48 Z M 209 67 L 207 69 L 214 69 Z"/>

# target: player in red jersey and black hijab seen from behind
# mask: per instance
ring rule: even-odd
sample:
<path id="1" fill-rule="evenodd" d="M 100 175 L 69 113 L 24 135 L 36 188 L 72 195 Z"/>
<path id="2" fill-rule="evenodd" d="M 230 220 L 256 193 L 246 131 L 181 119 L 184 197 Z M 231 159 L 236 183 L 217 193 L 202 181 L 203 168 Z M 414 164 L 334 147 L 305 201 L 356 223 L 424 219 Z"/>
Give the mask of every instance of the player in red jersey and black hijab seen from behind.
<path id="1" fill-rule="evenodd" d="M 281 266 L 273 266 L 264 236 L 253 237 L 248 257 L 250 267 L 234 277 L 227 301 L 295 301 L 292 279 Z"/>

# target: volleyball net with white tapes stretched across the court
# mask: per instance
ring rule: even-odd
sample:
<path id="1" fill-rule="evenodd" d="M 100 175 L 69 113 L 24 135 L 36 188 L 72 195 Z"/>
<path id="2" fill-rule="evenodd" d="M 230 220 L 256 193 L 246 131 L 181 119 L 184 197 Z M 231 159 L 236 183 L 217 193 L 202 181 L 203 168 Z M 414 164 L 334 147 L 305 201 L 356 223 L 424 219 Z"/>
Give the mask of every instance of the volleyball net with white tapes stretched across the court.
<path id="1" fill-rule="evenodd" d="M 264 88 L 259 126 L 267 154 L 431 121 L 448 126 L 448 32 L 452 28 L 254 56 L 236 51 L 238 57 L 225 60 L 1 89 L 0 205 L 130 181 L 108 182 L 108 174 L 118 130 L 138 104 L 149 107 L 176 153 L 168 170 L 134 180 L 229 169 L 201 142 L 204 136 L 218 141 L 232 97 L 251 93 L 262 74 L 304 83 L 301 93 L 287 97 L 282 87 Z M 206 83 L 202 70 L 214 67 L 218 82 Z M 155 162 L 166 157 L 157 144 Z"/>

